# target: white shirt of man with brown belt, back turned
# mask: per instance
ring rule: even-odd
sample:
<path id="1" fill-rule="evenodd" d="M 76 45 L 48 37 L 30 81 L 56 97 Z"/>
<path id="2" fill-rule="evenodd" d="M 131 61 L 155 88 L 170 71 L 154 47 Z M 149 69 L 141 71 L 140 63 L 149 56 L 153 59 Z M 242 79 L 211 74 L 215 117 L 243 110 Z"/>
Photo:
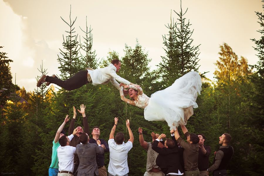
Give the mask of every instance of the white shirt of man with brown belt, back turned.
<path id="1" fill-rule="evenodd" d="M 58 147 L 57 155 L 59 159 L 59 171 L 73 172 L 75 154 L 76 154 L 76 147 L 72 147 L 70 145 Z"/>

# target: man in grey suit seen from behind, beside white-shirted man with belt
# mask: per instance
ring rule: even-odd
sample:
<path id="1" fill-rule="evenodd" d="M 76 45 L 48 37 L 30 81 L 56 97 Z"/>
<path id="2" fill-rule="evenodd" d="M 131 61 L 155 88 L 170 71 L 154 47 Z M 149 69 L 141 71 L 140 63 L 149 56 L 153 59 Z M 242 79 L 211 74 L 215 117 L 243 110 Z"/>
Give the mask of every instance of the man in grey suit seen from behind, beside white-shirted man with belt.
<path id="1" fill-rule="evenodd" d="M 101 141 L 97 140 L 97 144 L 89 143 L 89 136 L 87 133 L 82 133 L 79 140 L 81 144 L 76 146 L 76 153 L 79 157 L 77 176 L 99 175 L 96 154 L 104 153 L 104 148 L 101 147 Z"/>

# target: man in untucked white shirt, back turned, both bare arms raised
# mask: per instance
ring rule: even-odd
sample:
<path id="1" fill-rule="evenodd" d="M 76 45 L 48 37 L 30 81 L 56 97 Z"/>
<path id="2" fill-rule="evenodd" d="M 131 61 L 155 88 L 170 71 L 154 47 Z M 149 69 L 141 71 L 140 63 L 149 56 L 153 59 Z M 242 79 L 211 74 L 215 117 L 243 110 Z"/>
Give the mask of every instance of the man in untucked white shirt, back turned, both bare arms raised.
<path id="1" fill-rule="evenodd" d="M 115 124 L 111 130 L 108 145 L 109 145 L 109 165 L 108 172 L 109 176 L 128 176 L 128 164 L 127 164 L 127 154 L 129 150 L 133 147 L 134 136 L 130 129 L 129 119 L 126 120 L 126 126 L 129 133 L 129 140 L 124 143 L 124 134 L 119 132 L 114 138 L 114 133 L 116 131 L 118 118 L 115 118 Z M 115 140 L 114 140 L 115 139 Z"/>

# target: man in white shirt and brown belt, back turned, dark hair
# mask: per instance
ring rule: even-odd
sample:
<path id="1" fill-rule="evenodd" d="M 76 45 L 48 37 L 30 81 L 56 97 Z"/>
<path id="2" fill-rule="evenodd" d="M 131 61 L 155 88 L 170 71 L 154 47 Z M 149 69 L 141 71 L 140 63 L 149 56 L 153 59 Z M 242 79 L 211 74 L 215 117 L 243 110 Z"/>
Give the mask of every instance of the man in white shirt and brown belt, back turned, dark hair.
<path id="1" fill-rule="evenodd" d="M 70 146 L 70 139 L 67 136 L 62 136 L 59 139 L 60 146 L 57 149 L 57 156 L 59 159 L 59 173 L 58 176 L 73 176 L 74 170 L 74 154 L 76 154 L 76 147 Z"/>

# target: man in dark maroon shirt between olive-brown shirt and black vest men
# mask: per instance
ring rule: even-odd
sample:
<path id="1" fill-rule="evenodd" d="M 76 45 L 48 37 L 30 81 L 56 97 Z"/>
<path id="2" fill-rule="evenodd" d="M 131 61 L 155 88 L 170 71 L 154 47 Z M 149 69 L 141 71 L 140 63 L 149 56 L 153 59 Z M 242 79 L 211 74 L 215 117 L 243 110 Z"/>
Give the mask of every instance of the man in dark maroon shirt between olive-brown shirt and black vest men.
<path id="1" fill-rule="evenodd" d="M 205 136 L 203 134 L 198 134 L 198 137 L 200 139 L 198 153 L 198 169 L 200 171 L 200 176 L 206 176 L 211 147 L 204 145 Z"/>

